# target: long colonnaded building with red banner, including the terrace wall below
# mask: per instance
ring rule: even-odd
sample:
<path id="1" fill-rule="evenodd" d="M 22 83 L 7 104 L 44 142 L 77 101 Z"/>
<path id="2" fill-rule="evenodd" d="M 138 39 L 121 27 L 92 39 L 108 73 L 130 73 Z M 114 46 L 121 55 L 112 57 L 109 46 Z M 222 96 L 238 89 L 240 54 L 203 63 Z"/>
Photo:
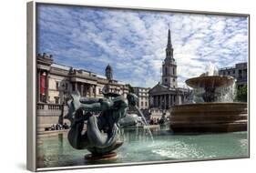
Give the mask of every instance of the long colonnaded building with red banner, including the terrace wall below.
<path id="1" fill-rule="evenodd" d="M 36 56 L 36 120 L 37 131 L 45 131 L 53 124 L 69 125 L 65 103 L 71 92 L 78 91 L 81 97 L 104 97 L 112 92 L 127 97 L 128 85 L 113 79 L 113 70 L 107 66 L 106 76 L 85 69 L 75 69 L 54 63 L 52 56 L 45 53 Z M 109 70 L 110 69 L 110 70 Z"/>

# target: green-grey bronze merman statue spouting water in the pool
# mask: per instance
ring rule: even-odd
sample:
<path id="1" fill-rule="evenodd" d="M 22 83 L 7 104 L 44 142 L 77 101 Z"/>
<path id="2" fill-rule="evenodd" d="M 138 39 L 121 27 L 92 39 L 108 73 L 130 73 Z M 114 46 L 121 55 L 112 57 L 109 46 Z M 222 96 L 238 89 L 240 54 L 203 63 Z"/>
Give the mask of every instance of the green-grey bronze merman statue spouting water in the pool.
<path id="1" fill-rule="evenodd" d="M 71 94 L 66 116 L 71 122 L 67 136 L 70 145 L 76 149 L 87 149 L 93 158 L 112 153 L 123 144 L 118 121 L 126 117 L 128 107 L 135 107 L 137 102 L 138 97 L 134 94 L 128 94 L 127 98 L 114 93 L 104 93 L 103 98 L 80 97 L 78 92 Z M 95 111 L 100 114 L 91 113 Z M 87 128 L 83 134 L 85 121 Z"/>

